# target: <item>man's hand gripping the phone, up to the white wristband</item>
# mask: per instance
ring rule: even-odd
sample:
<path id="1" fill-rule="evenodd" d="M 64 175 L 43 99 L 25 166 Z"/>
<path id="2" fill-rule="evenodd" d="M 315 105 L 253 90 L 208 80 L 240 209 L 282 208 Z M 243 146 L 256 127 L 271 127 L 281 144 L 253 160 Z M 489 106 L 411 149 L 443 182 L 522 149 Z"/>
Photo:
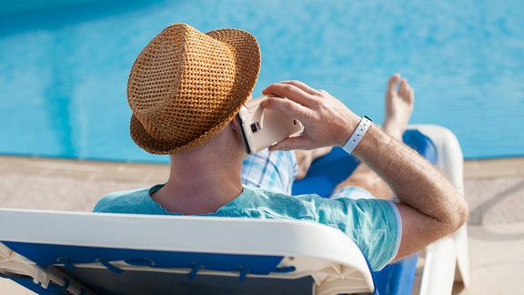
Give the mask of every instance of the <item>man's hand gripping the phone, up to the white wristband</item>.
<path id="1" fill-rule="evenodd" d="M 300 136 L 284 139 L 270 150 L 341 147 L 346 144 L 360 120 L 336 97 L 299 81 L 279 82 L 267 86 L 262 93 L 277 96 L 266 99 L 262 107 L 287 113 L 304 125 L 304 132 Z"/>

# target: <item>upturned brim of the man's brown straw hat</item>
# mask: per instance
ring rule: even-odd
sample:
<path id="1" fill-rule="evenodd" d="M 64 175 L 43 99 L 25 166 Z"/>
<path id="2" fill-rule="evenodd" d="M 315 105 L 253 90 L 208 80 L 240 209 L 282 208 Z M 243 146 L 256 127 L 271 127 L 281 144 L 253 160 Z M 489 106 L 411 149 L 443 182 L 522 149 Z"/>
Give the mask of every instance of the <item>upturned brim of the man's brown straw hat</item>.
<path id="1" fill-rule="evenodd" d="M 260 70 L 260 48 L 257 39 L 246 31 L 237 29 L 219 29 L 208 32 L 206 35 L 226 43 L 235 51 L 237 75 L 235 77 L 236 87 L 234 88 L 237 91 L 231 98 L 234 100 L 231 104 L 232 107 L 225 111 L 224 116 L 217 120 L 215 126 L 209 128 L 200 136 L 189 139 L 184 145 L 159 142 L 156 138 L 151 137 L 142 123 L 132 115 L 130 122 L 131 137 L 136 145 L 151 154 L 172 155 L 201 147 L 227 127 L 227 124 L 233 120 L 240 108 L 246 103 L 247 97 L 255 87 Z"/>

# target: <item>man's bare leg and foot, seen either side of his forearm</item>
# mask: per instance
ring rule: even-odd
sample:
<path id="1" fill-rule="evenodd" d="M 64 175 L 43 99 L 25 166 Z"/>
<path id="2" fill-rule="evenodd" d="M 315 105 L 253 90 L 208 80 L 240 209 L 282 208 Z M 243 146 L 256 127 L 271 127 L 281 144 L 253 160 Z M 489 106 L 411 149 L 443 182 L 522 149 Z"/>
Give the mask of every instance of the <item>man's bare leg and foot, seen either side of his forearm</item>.
<path id="1" fill-rule="evenodd" d="M 389 136 L 402 140 L 415 102 L 413 89 L 408 85 L 406 79 L 402 79 L 397 74 L 389 78 L 385 97 L 386 115 L 382 129 Z M 394 197 L 388 184 L 364 164 L 358 165 L 349 178 L 335 188 L 335 191 L 348 187 L 364 188 L 375 198 L 392 199 Z"/>

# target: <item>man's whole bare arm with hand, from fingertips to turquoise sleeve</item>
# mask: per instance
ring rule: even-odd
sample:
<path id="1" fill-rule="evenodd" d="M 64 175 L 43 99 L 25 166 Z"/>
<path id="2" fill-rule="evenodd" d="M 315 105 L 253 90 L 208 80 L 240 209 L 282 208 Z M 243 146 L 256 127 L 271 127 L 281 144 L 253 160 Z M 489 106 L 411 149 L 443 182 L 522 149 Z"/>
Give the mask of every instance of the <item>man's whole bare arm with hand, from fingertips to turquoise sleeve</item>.
<path id="1" fill-rule="evenodd" d="M 287 112 L 304 124 L 301 136 L 287 138 L 271 149 L 342 147 L 360 120 L 337 98 L 297 81 L 268 86 L 263 93 L 288 99 L 271 98 L 262 107 Z M 457 189 L 426 159 L 378 127 L 369 127 L 353 154 L 388 182 L 400 201 L 402 239 L 397 259 L 423 249 L 466 221 L 468 207 Z"/>

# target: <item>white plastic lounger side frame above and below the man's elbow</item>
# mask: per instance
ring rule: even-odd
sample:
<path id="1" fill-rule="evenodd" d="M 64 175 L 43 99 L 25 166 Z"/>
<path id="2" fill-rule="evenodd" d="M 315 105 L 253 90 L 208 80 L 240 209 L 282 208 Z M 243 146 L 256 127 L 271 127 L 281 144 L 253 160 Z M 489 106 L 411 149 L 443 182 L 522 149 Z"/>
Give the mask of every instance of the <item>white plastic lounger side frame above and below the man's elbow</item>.
<path id="1" fill-rule="evenodd" d="M 433 141 L 437 148 L 437 168 L 464 193 L 464 158 L 457 137 L 447 128 L 435 125 L 412 125 L 409 128 L 418 129 Z M 469 285 L 466 224 L 449 237 L 427 247 L 419 294 L 451 294 L 455 280 L 462 281 L 466 287 Z"/>

